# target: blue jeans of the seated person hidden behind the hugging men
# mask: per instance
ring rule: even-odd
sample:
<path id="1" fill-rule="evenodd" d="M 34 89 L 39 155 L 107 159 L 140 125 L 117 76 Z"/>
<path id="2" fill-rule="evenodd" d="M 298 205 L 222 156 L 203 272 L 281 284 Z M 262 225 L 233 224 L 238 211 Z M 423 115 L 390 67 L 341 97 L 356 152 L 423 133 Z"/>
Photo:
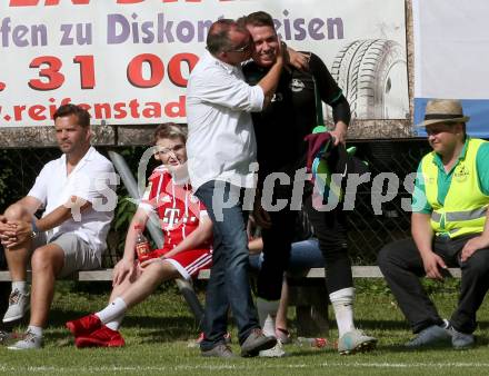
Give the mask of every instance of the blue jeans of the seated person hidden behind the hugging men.
<path id="1" fill-rule="evenodd" d="M 251 255 L 250 266 L 252 269 L 259 270 L 263 263 L 263 254 Z M 310 268 L 325 267 L 325 257 L 319 248 L 318 239 L 307 239 L 292 243 L 289 259 L 289 271 L 300 271 Z"/>

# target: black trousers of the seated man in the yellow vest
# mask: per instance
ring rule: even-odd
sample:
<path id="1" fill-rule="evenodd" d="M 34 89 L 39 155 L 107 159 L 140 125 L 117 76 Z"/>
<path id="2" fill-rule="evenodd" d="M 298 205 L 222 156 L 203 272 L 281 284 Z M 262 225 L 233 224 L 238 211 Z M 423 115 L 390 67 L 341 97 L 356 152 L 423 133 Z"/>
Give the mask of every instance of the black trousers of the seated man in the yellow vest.
<path id="1" fill-rule="evenodd" d="M 476 313 L 489 289 L 489 249 L 476 251 L 465 263 L 460 260 L 463 245 L 472 237 L 475 236 L 453 239 L 435 237 L 433 240 L 433 251 L 446 265 L 461 268 L 460 296 L 450 324 L 467 334 L 476 329 Z M 411 238 L 383 247 L 379 253 L 378 264 L 413 333 L 442 323 L 420 284 L 419 277 L 423 277 L 426 273 L 419 250 Z"/>

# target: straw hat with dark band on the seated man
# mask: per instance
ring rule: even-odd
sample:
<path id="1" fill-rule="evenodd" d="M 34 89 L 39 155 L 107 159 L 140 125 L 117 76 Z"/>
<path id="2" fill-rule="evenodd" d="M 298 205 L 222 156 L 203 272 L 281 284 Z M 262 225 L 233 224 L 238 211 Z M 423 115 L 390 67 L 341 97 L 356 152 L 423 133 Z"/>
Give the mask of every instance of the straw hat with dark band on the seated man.
<path id="1" fill-rule="evenodd" d="M 470 117 L 463 116 L 462 105 L 456 99 L 431 99 L 426 105 L 425 121 L 416 127 L 428 127 L 435 123 L 467 122 Z"/>

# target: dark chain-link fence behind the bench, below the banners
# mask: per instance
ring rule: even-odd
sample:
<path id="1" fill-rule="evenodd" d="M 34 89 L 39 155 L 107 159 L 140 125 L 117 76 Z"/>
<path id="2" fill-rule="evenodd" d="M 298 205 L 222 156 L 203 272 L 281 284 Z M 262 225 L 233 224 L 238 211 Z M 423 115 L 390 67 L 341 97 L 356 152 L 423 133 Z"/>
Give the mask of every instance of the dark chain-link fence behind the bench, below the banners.
<path id="1" fill-rule="evenodd" d="M 377 253 L 387 243 L 401 239 L 410 234 L 410 212 L 402 208 L 402 200 L 410 194 L 403 187 L 405 177 L 416 171 L 419 160 L 429 147 L 425 141 L 416 140 L 376 140 L 352 142 L 357 147 L 357 156 L 367 161 L 371 174 L 370 181 L 358 187 L 355 210 L 349 211 L 348 240 L 350 255 L 356 265 L 375 264 Z M 99 148 L 107 155 L 107 149 Z M 131 170 L 136 174 L 143 147 L 118 148 Z M 14 200 L 23 197 L 32 187 L 42 166 L 58 158 L 57 148 L 3 149 L 0 151 L 0 212 Z M 151 166 L 150 166 L 151 168 Z M 372 181 L 382 172 L 395 172 L 399 178 L 399 190 L 389 190 L 385 180 L 381 189 L 372 189 Z M 133 208 L 124 198 L 128 196 L 122 186 L 118 188 L 119 204 L 116 219 L 109 234 L 109 250 L 104 255 L 103 265 L 113 263 L 123 251 L 123 239 L 127 234 L 129 218 Z M 385 195 L 392 198 L 379 205 Z"/>

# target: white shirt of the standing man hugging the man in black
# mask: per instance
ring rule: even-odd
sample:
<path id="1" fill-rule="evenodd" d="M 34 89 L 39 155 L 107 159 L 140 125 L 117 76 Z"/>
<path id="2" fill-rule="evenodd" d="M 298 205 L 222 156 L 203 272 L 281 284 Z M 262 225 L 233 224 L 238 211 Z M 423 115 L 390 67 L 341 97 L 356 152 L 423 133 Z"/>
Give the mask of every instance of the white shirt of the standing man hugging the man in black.
<path id="1" fill-rule="evenodd" d="M 187 85 L 187 155 L 194 190 L 210 180 L 255 186 L 257 141 L 250 112 L 262 106 L 261 87 L 249 86 L 240 67 L 206 51 Z"/>

